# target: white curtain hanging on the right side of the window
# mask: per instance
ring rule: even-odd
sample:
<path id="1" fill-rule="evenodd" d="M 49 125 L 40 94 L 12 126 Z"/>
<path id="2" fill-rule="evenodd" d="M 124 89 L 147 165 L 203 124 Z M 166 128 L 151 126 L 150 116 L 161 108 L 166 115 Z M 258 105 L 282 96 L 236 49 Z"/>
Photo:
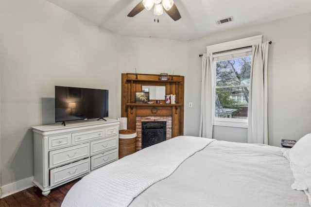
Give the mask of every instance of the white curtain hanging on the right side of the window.
<path id="1" fill-rule="evenodd" d="M 268 144 L 268 42 L 254 45 L 248 103 L 248 143 Z"/>

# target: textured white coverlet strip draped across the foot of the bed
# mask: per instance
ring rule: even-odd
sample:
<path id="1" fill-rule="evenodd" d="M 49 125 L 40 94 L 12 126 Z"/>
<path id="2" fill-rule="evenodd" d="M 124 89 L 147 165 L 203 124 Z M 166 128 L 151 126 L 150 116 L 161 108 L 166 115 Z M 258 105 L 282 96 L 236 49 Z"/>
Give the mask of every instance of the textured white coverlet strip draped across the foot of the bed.
<path id="1" fill-rule="evenodd" d="M 212 141 L 180 136 L 126 156 L 86 175 L 69 190 L 62 207 L 126 207 Z"/>

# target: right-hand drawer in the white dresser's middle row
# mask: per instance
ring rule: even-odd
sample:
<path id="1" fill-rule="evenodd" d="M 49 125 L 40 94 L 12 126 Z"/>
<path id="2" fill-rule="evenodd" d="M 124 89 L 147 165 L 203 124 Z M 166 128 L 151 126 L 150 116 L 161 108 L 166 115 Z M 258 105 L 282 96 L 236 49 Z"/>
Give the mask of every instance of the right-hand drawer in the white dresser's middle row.
<path id="1" fill-rule="evenodd" d="M 117 148 L 117 138 L 118 137 L 112 137 L 112 138 L 104 138 L 97 141 L 92 141 L 90 143 L 91 147 L 91 155 L 98 154 L 103 151 L 111 150 L 114 148 Z"/>

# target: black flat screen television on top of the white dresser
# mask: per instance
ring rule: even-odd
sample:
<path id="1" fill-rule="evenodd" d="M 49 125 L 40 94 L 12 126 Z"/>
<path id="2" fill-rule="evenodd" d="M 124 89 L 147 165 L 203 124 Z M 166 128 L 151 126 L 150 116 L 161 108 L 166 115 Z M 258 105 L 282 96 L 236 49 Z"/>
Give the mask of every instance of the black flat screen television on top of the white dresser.
<path id="1" fill-rule="evenodd" d="M 55 122 L 108 117 L 108 90 L 55 86 Z"/>

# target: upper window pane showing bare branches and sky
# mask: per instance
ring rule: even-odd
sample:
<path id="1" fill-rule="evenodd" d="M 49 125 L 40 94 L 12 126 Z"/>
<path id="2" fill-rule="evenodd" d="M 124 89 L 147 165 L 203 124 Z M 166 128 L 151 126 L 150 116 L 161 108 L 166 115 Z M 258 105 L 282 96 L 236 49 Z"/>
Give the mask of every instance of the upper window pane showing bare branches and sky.
<path id="1" fill-rule="evenodd" d="M 251 56 L 216 61 L 215 68 L 216 86 L 249 85 Z"/>

